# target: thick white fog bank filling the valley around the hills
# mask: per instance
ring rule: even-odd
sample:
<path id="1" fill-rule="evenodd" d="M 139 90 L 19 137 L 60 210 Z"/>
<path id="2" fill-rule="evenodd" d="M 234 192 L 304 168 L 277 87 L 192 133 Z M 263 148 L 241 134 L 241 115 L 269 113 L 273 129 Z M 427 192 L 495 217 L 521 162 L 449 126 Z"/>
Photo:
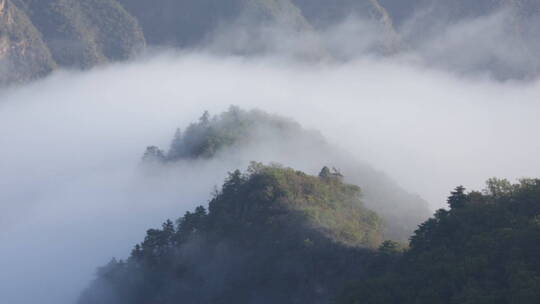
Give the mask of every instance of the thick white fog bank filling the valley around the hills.
<path id="1" fill-rule="evenodd" d="M 486 29 L 482 22 L 494 22 L 486 20 L 459 26 Z M 354 24 L 328 39 L 347 42 L 364 31 Z M 347 54 L 374 45 L 362 41 L 330 44 Z M 451 42 L 345 62 L 296 60 L 302 52 L 283 59 L 170 51 L 1 91 L 2 302 L 73 303 L 96 266 L 125 258 L 147 228 L 205 204 L 230 163 L 183 163 L 174 176 L 145 176 L 139 167 L 146 146 L 167 147 L 174 130 L 204 110 L 238 105 L 293 118 L 432 209 L 457 185 L 481 189 L 493 176 L 538 176 L 540 82 L 464 74 L 460 65 L 429 64 L 422 55 L 448 63 L 475 49 L 456 42 L 461 53 L 442 52 Z M 493 60 L 516 58 L 498 50 Z"/>

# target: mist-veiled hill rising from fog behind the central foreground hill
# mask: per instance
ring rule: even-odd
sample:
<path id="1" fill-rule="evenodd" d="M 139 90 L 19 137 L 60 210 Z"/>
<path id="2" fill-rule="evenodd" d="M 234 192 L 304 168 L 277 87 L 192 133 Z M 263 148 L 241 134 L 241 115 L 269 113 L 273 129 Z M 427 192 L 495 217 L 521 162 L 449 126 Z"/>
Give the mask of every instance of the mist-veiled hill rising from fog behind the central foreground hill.
<path id="1" fill-rule="evenodd" d="M 219 116 L 205 113 L 199 122 L 178 130 L 168 152 L 149 147 L 144 159 L 174 169 L 176 162 L 210 161 L 245 166 L 250 161 L 294 165 L 308 172 L 337 167 L 347 182 L 362 188 L 366 206 L 387 224 L 386 237 L 405 241 L 430 215 L 427 203 L 399 187 L 385 174 L 329 144 L 316 131 L 261 111 L 236 107 Z M 232 168 L 231 168 L 232 169 Z"/>

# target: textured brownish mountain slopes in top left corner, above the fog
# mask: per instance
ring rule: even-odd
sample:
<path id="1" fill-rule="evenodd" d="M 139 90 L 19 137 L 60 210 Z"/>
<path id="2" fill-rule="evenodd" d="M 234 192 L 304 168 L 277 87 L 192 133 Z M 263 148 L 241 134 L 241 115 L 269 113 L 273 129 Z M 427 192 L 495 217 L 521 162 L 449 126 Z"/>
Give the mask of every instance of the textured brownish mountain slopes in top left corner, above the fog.
<path id="1" fill-rule="evenodd" d="M 116 0 L 0 0 L 1 83 L 44 76 L 57 66 L 89 68 L 127 59 L 144 46 L 137 21 Z M 9 51 L 8 51 L 9 50 Z"/>

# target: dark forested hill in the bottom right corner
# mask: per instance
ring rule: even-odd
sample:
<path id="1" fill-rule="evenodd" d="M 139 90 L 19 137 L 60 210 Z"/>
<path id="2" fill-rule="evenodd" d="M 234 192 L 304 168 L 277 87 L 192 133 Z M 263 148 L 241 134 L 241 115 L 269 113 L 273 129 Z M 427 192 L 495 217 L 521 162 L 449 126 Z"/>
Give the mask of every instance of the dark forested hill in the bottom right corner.
<path id="1" fill-rule="evenodd" d="M 491 179 L 483 194 L 458 187 L 449 203 L 340 303 L 538 303 L 540 180 Z"/>

